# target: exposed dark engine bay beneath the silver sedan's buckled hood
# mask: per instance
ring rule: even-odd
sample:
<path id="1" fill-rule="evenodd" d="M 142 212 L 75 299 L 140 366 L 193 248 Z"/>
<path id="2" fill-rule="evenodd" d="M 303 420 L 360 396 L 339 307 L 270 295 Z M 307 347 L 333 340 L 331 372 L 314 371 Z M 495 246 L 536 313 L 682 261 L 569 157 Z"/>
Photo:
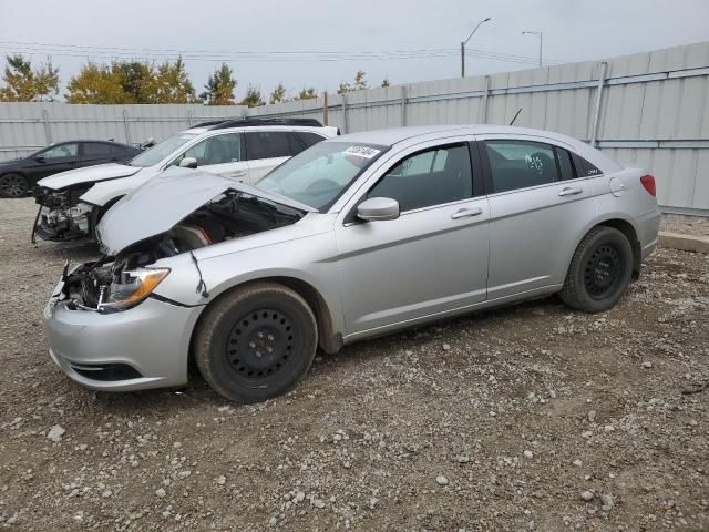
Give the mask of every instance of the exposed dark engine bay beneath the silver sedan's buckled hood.
<path id="1" fill-rule="evenodd" d="M 168 232 L 137 242 L 115 257 L 104 255 L 69 274 L 62 289 L 71 306 L 111 311 L 109 301 L 135 270 L 183 253 L 298 222 L 304 212 L 228 191 L 189 214 Z M 198 269 L 198 264 L 195 266 Z M 202 274 L 199 273 L 199 277 Z"/>

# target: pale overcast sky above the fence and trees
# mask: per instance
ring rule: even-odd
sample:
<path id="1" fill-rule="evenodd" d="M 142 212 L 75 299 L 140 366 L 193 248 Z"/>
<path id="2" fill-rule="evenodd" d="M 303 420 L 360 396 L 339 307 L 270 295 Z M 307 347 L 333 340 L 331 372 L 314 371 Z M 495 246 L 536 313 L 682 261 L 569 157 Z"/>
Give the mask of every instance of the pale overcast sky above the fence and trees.
<path id="1" fill-rule="evenodd" d="M 51 55 L 64 85 L 86 60 L 182 52 L 197 92 L 226 59 L 237 98 L 279 81 L 333 91 L 360 69 L 370 84 L 408 83 L 460 75 L 460 41 L 486 17 L 471 75 L 533 68 L 538 40 L 524 30 L 544 33 L 553 64 L 709 40 L 709 0 L 0 0 L 0 69 L 6 53 Z"/>

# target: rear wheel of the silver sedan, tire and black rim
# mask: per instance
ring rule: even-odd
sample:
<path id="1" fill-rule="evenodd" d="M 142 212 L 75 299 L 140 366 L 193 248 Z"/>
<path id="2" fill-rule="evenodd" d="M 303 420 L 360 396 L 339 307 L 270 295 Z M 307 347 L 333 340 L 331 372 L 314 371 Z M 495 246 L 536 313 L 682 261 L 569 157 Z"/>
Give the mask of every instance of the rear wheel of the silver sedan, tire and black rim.
<path id="1" fill-rule="evenodd" d="M 574 253 L 559 296 L 569 307 L 602 313 L 616 305 L 633 275 L 633 248 L 618 229 L 590 229 Z"/>

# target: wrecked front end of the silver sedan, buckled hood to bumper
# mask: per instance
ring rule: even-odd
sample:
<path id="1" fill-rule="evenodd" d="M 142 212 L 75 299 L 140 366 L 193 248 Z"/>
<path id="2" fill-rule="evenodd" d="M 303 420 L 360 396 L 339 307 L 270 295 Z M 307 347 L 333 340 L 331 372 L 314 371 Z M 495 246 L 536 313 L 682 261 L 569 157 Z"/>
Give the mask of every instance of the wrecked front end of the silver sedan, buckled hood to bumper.
<path id="1" fill-rule="evenodd" d="M 185 385 L 192 331 L 209 299 L 194 252 L 305 215 L 194 174 L 156 177 L 122 200 L 96 231 L 104 255 L 62 274 L 44 324 L 51 358 L 73 380 L 115 391 Z M 171 276 L 198 303 L 158 295 Z"/>

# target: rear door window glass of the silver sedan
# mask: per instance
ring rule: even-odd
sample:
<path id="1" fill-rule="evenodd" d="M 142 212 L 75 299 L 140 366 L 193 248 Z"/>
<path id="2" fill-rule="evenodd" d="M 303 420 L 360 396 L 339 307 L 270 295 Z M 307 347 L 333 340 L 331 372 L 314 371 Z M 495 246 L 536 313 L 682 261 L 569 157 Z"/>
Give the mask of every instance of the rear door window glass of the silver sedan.
<path id="1" fill-rule="evenodd" d="M 486 141 L 493 192 L 514 191 L 557 181 L 551 145 L 531 141 Z"/>

